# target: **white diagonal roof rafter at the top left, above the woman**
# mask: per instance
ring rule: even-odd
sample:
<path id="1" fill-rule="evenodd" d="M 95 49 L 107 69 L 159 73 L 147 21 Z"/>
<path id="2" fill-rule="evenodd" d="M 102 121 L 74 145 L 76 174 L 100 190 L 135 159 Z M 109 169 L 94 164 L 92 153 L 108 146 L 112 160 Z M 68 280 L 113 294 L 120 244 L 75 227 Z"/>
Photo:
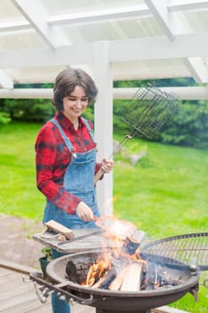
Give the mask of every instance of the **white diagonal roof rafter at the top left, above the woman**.
<path id="1" fill-rule="evenodd" d="M 46 45 L 52 49 L 69 44 L 61 31 L 47 24 L 47 15 L 38 0 L 12 0 L 29 24 L 37 31 Z"/>

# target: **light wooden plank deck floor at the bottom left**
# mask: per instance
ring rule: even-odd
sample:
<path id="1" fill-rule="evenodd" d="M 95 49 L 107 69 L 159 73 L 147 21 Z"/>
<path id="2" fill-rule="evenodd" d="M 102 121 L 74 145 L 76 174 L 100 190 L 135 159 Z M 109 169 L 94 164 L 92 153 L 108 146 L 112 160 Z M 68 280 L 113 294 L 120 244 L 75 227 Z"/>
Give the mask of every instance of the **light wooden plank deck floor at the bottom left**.
<path id="1" fill-rule="evenodd" d="M 45 304 L 37 299 L 33 283 L 23 283 L 29 275 L 0 266 L 0 313 L 51 313 L 51 301 Z M 95 313 L 96 309 L 76 303 L 71 313 Z"/>

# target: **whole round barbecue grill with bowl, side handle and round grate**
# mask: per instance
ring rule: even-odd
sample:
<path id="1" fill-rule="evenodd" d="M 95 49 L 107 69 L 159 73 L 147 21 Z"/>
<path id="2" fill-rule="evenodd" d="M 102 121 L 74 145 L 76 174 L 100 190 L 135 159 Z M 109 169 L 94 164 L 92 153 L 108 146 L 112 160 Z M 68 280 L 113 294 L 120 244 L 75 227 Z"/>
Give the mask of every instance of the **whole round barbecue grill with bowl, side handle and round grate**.
<path id="1" fill-rule="evenodd" d="M 104 234 L 100 236 L 101 239 Z M 69 280 L 65 273 L 69 260 L 81 259 L 86 263 L 101 253 L 101 247 L 100 249 L 95 249 L 95 247 L 90 250 L 83 249 L 82 241 L 91 242 L 91 247 L 94 246 L 92 243 L 94 236 L 91 239 L 87 237 L 87 240 L 76 241 L 82 247 L 79 252 L 68 253 L 62 258 L 54 259 L 46 267 L 46 277 L 40 273 L 33 273 L 30 274 L 30 279 L 35 283 L 37 296 L 42 302 L 45 302 L 52 292 L 56 292 L 60 299 L 76 301 L 96 308 L 96 313 L 147 313 L 150 309 L 179 300 L 187 292 L 191 292 L 197 300 L 200 271 L 208 269 L 207 238 L 208 233 L 192 233 L 141 245 L 141 257 L 146 258 L 149 264 L 160 268 L 162 272 L 168 272 L 171 279 L 178 282 L 168 286 L 155 288 L 150 279 L 145 290 L 121 292 L 92 288 Z M 38 241 L 40 241 L 39 238 Z M 68 243 L 69 246 L 70 243 Z M 108 249 L 111 249 L 110 246 Z M 207 287 L 205 281 L 204 286 Z"/>

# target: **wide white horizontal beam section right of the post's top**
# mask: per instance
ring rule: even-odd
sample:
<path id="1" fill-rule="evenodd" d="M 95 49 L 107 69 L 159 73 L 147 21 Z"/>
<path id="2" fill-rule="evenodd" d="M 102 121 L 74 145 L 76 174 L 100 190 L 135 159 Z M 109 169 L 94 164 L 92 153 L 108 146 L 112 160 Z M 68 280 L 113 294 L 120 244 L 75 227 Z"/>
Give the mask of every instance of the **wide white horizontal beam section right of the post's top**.
<path id="1" fill-rule="evenodd" d="M 171 42 L 164 36 L 112 41 L 110 44 L 110 61 L 128 62 L 192 56 L 207 57 L 207 38 L 208 32 L 202 32 L 178 35 Z"/>

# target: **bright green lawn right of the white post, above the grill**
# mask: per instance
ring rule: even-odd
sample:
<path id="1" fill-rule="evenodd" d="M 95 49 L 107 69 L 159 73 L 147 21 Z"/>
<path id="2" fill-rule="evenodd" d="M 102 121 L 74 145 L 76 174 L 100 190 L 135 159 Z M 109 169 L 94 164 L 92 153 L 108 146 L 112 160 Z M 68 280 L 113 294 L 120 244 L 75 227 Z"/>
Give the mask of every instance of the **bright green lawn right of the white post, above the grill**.
<path id="1" fill-rule="evenodd" d="M 144 146 L 145 144 L 145 146 Z M 114 170 L 115 212 L 152 237 L 208 229 L 207 151 L 135 140 L 146 151 L 136 166 L 119 159 Z"/>

